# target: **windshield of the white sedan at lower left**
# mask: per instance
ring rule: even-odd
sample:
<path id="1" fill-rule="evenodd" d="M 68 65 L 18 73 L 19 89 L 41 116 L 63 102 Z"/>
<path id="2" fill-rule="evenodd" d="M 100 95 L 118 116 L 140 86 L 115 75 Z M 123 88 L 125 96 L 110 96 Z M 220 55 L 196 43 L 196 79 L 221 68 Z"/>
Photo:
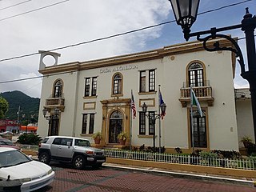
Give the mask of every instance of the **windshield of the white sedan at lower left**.
<path id="1" fill-rule="evenodd" d="M 22 154 L 19 150 L 8 150 L 0 153 L 0 168 L 6 166 L 16 166 L 24 162 L 32 161 L 25 154 Z"/>

